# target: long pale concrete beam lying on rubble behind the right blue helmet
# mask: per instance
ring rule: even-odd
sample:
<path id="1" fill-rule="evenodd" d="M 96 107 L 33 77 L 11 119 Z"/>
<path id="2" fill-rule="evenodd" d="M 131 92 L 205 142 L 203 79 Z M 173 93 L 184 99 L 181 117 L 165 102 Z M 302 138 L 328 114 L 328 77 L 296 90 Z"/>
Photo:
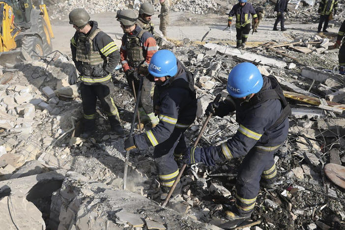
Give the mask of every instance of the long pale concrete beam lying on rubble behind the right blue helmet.
<path id="1" fill-rule="evenodd" d="M 243 51 L 243 50 L 239 51 L 238 49 L 235 49 L 229 46 L 221 46 L 215 43 L 206 43 L 203 46 L 212 50 L 216 50 L 222 54 L 229 54 L 231 56 L 241 58 L 248 62 L 260 61 L 260 64 L 273 65 L 280 68 L 284 68 L 285 66 L 287 66 L 287 64 L 284 61 L 279 61 L 273 58 L 266 58 L 264 56 L 257 55 L 248 51 Z"/>

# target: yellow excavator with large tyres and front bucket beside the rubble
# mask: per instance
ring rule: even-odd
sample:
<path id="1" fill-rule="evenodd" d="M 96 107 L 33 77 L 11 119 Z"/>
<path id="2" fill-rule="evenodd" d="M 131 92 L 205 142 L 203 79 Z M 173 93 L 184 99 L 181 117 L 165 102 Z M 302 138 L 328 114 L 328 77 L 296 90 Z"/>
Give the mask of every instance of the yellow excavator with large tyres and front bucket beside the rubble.
<path id="1" fill-rule="evenodd" d="M 46 5 L 38 0 L 0 0 L 0 65 L 38 59 L 52 52 L 54 38 Z M 1 20 L 2 18 L 2 20 Z"/>

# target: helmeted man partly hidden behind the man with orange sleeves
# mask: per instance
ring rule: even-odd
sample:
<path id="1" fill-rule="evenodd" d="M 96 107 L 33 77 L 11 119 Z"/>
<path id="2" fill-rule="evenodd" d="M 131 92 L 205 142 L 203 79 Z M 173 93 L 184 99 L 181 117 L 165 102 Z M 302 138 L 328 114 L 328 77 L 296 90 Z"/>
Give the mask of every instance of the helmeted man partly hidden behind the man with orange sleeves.
<path id="1" fill-rule="evenodd" d="M 139 9 L 139 16 L 137 25 L 147 32 L 150 32 L 154 39 L 156 39 L 157 45 L 162 44 L 162 38 L 155 34 L 154 25 L 151 23 L 151 17 L 154 15 L 154 8 L 149 2 L 144 2 Z"/>

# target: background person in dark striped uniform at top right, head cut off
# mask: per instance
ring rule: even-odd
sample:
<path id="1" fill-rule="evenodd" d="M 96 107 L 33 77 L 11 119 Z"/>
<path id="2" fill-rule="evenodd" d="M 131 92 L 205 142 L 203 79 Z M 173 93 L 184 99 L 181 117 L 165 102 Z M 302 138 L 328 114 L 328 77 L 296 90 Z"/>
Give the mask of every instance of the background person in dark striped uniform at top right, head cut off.
<path id="1" fill-rule="evenodd" d="M 338 8 L 338 0 L 321 0 L 320 6 L 318 7 L 317 13 L 320 14 L 320 21 L 318 23 L 317 32 L 321 32 L 322 24 L 323 25 L 323 32 L 328 32 L 328 21 L 332 17 L 332 10 L 334 9 L 334 14 L 337 14 L 337 8 Z"/>

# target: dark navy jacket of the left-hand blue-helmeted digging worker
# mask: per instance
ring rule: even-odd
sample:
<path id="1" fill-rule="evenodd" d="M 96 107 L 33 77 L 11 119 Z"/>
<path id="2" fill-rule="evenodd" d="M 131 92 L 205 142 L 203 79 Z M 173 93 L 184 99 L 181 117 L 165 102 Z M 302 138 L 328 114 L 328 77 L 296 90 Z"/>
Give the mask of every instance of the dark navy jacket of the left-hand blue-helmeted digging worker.
<path id="1" fill-rule="evenodd" d="M 195 93 L 188 88 L 185 67 L 177 60 L 177 73 L 163 85 L 154 89 L 153 106 L 159 117 L 159 124 L 149 131 L 134 136 L 139 149 L 147 149 L 166 141 L 175 128 L 187 129 L 195 120 L 197 100 Z"/>

